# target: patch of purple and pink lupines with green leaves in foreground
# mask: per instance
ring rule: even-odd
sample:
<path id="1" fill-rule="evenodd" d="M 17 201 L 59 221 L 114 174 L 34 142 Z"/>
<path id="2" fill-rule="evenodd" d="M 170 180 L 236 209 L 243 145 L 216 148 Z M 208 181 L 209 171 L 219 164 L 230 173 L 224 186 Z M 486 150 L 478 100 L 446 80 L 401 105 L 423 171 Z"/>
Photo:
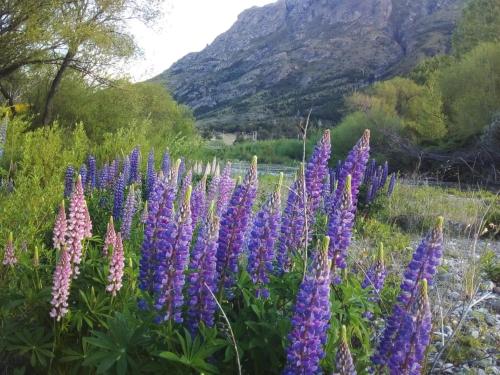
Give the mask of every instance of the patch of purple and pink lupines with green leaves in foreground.
<path id="1" fill-rule="evenodd" d="M 325 131 L 292 181 L 259 176 L 257 157 L 233 176 L 229 161 L 199 173 L 139 147 L 67 165 L 48 229 L 35 240 L 12 225 L 3 240 L 0 370 L 424 373 L 444 220 L 399 254 L 403 272 L 383 243 L 352 261 L 398 184 L 369 141 L 331 168 Z M 8 198 L 16 181 L 3 181 Z"/>

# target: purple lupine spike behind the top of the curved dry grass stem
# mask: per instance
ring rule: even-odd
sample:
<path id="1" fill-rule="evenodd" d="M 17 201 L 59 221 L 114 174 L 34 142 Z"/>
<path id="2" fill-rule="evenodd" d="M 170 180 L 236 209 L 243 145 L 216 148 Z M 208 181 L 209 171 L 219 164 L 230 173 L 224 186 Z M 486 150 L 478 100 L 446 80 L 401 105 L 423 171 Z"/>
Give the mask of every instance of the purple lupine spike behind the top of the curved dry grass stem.
<path id="1" fill-rule="evenodd" d="M 219 217 L 212 201 L 206 219 L 203 220 L 196 244 L 191 253 L 188 273 L 187 323 L 191 333 L 195 333 L 200 322 L 213 327 L 217 309 L 212 293 L 217 292 L 216 253 L 219 239 Z"/>

